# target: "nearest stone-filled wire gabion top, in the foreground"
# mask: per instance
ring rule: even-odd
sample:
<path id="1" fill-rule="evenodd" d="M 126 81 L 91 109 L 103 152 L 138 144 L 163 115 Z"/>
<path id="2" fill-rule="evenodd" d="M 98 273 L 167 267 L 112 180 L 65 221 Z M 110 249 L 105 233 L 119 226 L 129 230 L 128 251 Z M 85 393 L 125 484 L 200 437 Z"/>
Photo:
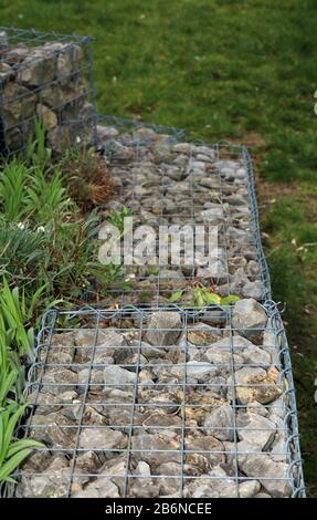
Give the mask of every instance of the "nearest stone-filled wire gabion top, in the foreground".
<path id="1" fill-rule="evenodd" d="M 13 475 L 18 483 L 7 493 L 304 498 L 287 340 L 277 305 L 267 301 L 263 309 L 267 323 L 249 330 L 262 353 L 256 361 L 247 361 L 246 345 L 237 342 L 232 306 L 170 305 L 160 309 L 163 326 L 154 321 L 158 309 L 49 311 L 25 389 L 30 416 L 20 427 L 21 435 L 46 446 Z M 198 336 L 201 326 L 205 335 Z M 218 337 L 221 347 L 210 350 Z M 211 365 L 207 352 L 215 355 Z M 207 372 L 194 378 L 197 360 Z M 128 379 L 112 378 L 114 366 Z M 85 381 L 75 382 L 83 367 Z M 265 377 L 239 379 L 239 371 L 251 368 Z M 72 381 L 61 372 L 60 382 L 52 379 L 61 370 L 72 371 Z M 151 381 L 145 371 L 156 374 Z M 66 398 L 65 391 L 73 396 Z M 252 394 L 243 397 L 245 391 L 258 402 Z M 266 395 L 263 404 L 260 391 Z M 205 419 L 224 405 L 230 423 Z M 51 412 L 55 415 L 47 419 Z M 256 419 L 251 428 L 243 422 L 246 412 Z M 251 443 L 250 435 L 253 446 L 242 441 Z"/>

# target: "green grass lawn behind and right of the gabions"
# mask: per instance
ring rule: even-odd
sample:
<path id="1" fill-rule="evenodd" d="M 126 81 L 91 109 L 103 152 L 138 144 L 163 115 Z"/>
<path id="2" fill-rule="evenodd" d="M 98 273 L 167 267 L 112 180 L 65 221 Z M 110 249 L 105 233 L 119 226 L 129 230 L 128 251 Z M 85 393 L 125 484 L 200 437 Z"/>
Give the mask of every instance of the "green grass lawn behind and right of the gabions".
<path id="1" fill-rule="evenodd" d="M 96 37 L 102 113 L 255 145 L 274 298 L 287 302 L 305 476 L 317 496 L 316 1 L 2 0 L 1 23 Z"/>

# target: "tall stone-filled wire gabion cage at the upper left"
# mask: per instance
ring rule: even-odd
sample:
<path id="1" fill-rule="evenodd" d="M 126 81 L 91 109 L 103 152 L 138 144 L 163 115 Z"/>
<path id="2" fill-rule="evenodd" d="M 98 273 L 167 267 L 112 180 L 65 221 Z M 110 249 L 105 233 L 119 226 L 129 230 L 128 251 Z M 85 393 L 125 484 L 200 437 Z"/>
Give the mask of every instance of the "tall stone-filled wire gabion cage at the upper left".
<path id="1" fill-rule="evenodd" d="M 62 152 L 96 139 L 91 37 L 0 29 L 0 153 L 23 153 L 38 119 Z"/>

